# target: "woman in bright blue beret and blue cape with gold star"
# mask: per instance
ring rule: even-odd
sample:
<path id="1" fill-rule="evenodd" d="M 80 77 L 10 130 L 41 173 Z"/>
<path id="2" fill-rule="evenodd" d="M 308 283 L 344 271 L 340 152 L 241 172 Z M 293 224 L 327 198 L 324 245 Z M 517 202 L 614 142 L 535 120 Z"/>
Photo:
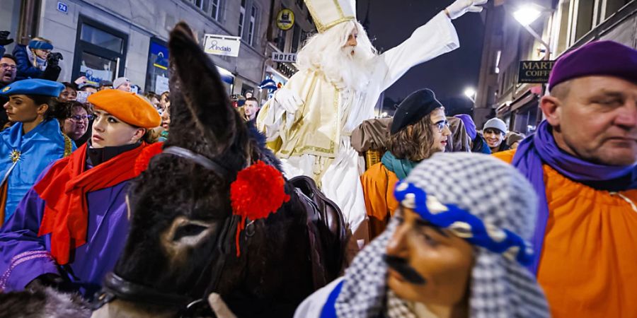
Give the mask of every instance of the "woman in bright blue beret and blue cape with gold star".
<path id="1" fill-rule="evenodd" d="M 57 107 L 64 85 L 42 79 L 16 81 L 0 91 L 13 126 L 0 132 L 0 225 L 8 220 L 40 172 L 75 146 L 59 128 L 67 109 Z"/>

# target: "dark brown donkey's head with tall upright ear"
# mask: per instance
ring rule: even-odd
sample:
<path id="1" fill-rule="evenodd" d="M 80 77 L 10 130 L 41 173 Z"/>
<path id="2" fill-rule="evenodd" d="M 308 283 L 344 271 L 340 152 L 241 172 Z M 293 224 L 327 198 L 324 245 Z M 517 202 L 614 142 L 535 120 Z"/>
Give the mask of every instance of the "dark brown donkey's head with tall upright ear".
<path id="1" fill-rule="evenodd" d="M 312 283 L 306 214 L 294 189 L 286 185 L 292 200 L 241 233 L 236 257 L 238 217 L 232 214 L 230 184 L 256 160 L 277 163 L 231 106 L 216 66 L 188 25 L 176 25 L 168 47 L 171 130 L 164 149 L 188 149 L 225 172 L 177 155 L 156 155 L 132 182 L 130 233 L 115 273 L 164 293 L 202 297 L 216 291 L 238 313 L 248 309 L 246 302 L 263 308 L 275 306 L 275 299 L 297 305 Z"/>

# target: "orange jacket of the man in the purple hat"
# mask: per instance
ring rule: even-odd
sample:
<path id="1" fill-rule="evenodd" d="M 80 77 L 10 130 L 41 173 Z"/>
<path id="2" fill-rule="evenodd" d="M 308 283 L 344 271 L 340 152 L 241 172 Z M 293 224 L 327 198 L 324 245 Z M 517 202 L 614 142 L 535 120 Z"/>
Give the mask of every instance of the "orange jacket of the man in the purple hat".
<path id="1" fill-rule="evenodd" d="M 513 155 L 493 154 L 507 163 Z M 549 220 L 537 279 L 553 317 L 637 317 L 637 190 L 595 190 L 549 165 L 544 183 Z"/>

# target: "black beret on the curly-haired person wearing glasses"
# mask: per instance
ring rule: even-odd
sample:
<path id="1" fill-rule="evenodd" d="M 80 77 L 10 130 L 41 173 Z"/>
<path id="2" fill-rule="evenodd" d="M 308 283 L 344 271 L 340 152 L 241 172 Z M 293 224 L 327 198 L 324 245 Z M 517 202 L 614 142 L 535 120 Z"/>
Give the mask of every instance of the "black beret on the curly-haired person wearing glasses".
<path id="1" fill-rule="evenodd" d="M 418 120 L 433 112 L 442 104 L 436 99 L 432 90 L 424 88 L 411 93 L 394 113 L 394 122 L 391 123 L 391 134 L 396 134 L 408 125 L 418 122 Z"/>

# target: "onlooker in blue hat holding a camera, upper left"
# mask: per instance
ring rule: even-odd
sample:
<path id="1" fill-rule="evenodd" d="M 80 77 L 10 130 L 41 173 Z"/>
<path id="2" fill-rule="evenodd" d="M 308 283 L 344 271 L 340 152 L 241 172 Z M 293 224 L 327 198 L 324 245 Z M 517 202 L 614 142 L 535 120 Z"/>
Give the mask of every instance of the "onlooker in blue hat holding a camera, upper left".
<path id="1" fill-rule="evenodd" d="M 33 37 L 28 46 L 16 45 L 13 49 L 18 68 L 16 81 L 25 78 L 57 81 L 59 72 L 62 71 L 58 66 L 62 54 L 52 53 L 52 49 L 51 41 L 44 37 Z"/>

